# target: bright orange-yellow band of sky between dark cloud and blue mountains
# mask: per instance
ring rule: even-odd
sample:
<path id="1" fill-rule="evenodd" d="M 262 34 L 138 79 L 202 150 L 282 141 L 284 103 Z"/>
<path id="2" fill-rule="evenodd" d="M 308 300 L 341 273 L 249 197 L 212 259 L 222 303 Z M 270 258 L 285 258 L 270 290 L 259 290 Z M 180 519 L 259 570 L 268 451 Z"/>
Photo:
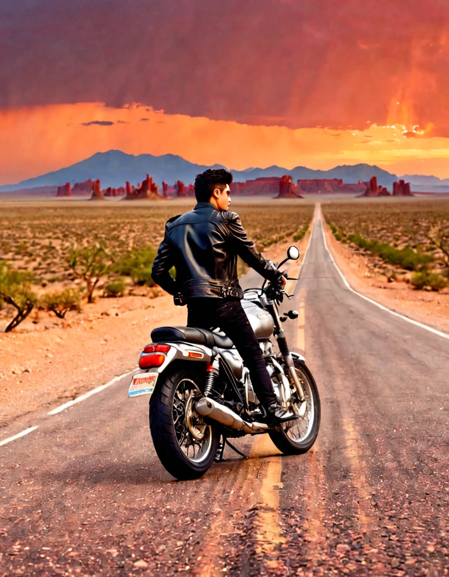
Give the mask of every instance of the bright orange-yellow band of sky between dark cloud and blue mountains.
<path id="1" fill-rule="evenodd" d="M 449 178 L 449 138 L 406 128 L 367 123 L 365 130 L 289 129 L 165 114 L 139 104 L 18 108 L 0 111 L 0 184 L 58 170 L 111 148 L 134 155 L 173 153 L 190 162 L 237 170 L 368 163 L 398 175 Z"/>

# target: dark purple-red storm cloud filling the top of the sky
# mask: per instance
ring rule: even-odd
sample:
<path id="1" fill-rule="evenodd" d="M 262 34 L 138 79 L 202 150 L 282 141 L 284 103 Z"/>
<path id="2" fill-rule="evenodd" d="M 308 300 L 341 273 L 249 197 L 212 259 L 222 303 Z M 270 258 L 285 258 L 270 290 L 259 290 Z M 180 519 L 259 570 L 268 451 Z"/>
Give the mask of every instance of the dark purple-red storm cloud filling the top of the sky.
<path id="1" fill-rule="evenodd" d="M 447 0 L 2 2 L 0 107 L 141 102 L 247 123 L 393 118 L 449 133 L 448 22 Z"/>

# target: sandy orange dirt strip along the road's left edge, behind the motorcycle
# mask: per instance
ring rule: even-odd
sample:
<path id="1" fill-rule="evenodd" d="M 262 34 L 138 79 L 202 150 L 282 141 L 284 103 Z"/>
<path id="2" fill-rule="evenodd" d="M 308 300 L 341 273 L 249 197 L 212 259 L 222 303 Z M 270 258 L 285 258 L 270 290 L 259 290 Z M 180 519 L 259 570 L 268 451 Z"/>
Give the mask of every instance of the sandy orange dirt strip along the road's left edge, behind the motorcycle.
<path id="1" fill-rule="evenodd" d="M 302 253 L 309 234 L 295 243 Z M 272 245 L 265 256 L 280 260 L 292 243 Z M 83 313 L 68 313 L 65 322 L 39 313 L 33 324 L 33 314 L 15 331 L 0 333 L 3 427 L 18 415 L 62 404 L 135 368 L 154 327 L 185 325 L 187 320 L 186 307 L 175 307 L 166 293 L 156 298 L 98 298 L 85 304 Z"/>

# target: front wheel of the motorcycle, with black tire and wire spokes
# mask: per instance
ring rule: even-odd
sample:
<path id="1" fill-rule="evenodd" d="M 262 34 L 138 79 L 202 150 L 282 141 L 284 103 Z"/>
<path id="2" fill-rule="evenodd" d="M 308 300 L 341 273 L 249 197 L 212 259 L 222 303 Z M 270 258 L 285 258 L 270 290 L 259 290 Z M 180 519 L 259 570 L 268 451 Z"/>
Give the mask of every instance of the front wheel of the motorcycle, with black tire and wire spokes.
<path id="1" fill-rule="evenodd" d="M 298 418 L 295 421 L 290 421 L 268 433 L 279 451 L 282 451 L 285 455 L 300 455 L 307 452 L 316 441 L 321 421 L 320 396 L 315 379 L 313 379 L 312 373 L 300 359 L 294 358 L 294 365 L 298 377 L 302 380 L 307 396 L 308 406 L 306 414 L 304 419 Z M 289 409 L 293 411 L 293 405 Z M 305 424 L 305 419 L 308 415 L 309 419 Z M 303 430 L 304 436 L 301 436 L 299 433 Z M 298 438 L 294 440 L 296 436 Z"/>

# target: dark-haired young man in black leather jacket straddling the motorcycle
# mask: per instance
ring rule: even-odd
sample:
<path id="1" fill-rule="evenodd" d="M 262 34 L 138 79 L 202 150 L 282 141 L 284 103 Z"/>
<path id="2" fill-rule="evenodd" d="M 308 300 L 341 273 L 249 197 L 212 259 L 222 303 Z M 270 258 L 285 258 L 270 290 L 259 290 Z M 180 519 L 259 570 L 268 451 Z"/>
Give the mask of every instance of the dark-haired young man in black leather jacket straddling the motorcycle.
<path id="1" fill-rule="evenodd" d="M 282 284 L 286 281 L 248 240 L 239 216 L 228 211 L 232 179 L 223 168 L 197 175 L 197 204 L 192 211 L 167 222 L 152 277 L 167 293 L 175 295 L 176 304 L 186 302 L 189 327 L 220 327 L 232 340 L 249 369 L 267 423 L 276 425 L 295 415 L 278 404 L 263 353 L 242 309 L 244 293 L 237 278 L 237 256 L 265 279 Z M 173 266 L 176 280 L 169 274 Z"/>

